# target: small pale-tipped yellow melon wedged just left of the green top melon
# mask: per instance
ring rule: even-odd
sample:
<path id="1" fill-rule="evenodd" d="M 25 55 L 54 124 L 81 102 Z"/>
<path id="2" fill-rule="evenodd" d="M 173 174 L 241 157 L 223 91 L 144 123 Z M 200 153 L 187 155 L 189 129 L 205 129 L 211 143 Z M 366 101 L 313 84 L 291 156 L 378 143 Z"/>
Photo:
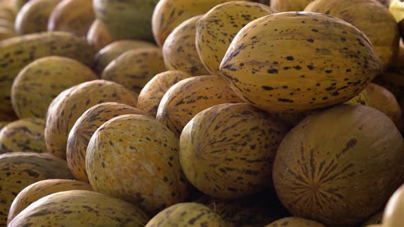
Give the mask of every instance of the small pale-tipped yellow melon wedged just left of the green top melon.
<path id="1" fill-rule="evenodd" d="M 95 20 L 90 29 L 88 29 L 86 40 L 97 51 L 103 49 L 103 47 L 113 41 L 105 25 L 99 20 Z"/>

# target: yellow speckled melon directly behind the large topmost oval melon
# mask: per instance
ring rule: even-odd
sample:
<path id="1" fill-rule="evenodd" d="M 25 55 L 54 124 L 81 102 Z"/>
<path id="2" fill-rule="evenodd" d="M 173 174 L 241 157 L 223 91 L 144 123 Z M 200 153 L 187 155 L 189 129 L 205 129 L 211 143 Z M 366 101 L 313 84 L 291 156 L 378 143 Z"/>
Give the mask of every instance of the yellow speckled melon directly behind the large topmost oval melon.
<path id="1" fill-rule="evenodd" d="M 268 5 L 230 1 L 216 5 L 197 23 L 196 46 L 211 75 L 220 76 L 219 66 L 238 31 L 257 18 L 273 14 Z"/>

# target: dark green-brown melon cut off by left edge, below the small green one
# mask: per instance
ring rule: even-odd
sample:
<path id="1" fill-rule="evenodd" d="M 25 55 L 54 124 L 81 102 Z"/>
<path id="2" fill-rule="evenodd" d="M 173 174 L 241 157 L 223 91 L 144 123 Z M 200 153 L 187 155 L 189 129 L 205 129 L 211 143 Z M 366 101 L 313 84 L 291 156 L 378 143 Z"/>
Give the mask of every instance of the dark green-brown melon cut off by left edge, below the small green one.
<path id="1" fill-rule="evenodd" d="M 28 185 L 45 179 L 71 179 L 66 161 L 49 154 L 12 152 L 0 155 L 0 225 L 7 224 L 10 205 Z"/>

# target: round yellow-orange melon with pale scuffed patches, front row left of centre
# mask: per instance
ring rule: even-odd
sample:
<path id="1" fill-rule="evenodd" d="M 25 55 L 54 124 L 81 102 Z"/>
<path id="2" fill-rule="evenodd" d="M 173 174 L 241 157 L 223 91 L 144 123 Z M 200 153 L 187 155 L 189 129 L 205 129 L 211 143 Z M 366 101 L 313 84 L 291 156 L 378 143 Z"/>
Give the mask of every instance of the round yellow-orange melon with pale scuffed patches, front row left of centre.
<path id="1" fill-rule="evenodd" d="M 88 180 L 94 191 L 139 204 L 154 215 L 188 196 L 178 150 L 175 135 L 153 118 L 118 116 L 90 139 Z"/>

